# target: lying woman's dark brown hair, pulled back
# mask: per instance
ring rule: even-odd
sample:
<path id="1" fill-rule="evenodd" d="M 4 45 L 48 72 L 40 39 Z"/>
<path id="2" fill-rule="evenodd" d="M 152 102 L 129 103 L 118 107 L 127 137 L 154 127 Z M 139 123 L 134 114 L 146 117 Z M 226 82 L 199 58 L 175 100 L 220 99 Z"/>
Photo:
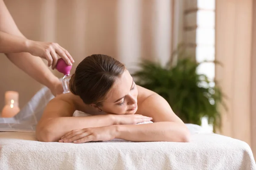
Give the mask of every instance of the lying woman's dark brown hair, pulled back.
<path id="1" fill-rule="evenodd" d="M 80 96 L 85 104 L 100 105 L 116 78 L 121 77 L 125 66 L 116 59 L 93 54 L 83 59 L 70 79 L 70 91 Z"/>

